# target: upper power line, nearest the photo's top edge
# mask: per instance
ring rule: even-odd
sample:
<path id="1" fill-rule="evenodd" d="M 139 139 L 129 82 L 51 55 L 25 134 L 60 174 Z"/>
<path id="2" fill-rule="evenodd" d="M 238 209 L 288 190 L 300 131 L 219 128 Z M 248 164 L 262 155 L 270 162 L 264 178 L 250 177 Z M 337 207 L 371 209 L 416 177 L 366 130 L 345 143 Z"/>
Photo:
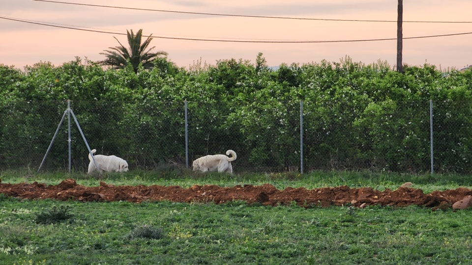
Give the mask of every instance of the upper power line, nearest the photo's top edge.
<path id="1" fill-rule="evenodd" d="M 50 1 L 50 0 L 34 0 L 34 1 L 61 3 L 61 4 L 75 4 L 75 5 L 95 6 L 95 7 L 108 7 L 108 8 L 118 8 L 118 9 L 141 10 L 141 11 L 155 11 L 155 12 L 168 12 L 168 13 L 193 14 L 193 15 L 208 15 L 208 16 L 268 18 L 268 19 L 293 19 L 293 20 L 318 20 L 318 21 L 347 21 L 347 22 L 395 22 L 395 23 L 397 22 L 396 20 L 319 19 L 319 18 L 294 18 L 294 17 L 232 15 L 232 14 L 218 14 L 218 13 L 200 13 L 200 12 L 160 10 L 160 9 L 149 9 L 149 8 L 134 8 L 134 7 L 122 7 L 122 6 L 112 6 L 112 5 L 83 4 L 83 3 Z M 472 21 L 403 21 L 403 23 L 472 23 Z"/>

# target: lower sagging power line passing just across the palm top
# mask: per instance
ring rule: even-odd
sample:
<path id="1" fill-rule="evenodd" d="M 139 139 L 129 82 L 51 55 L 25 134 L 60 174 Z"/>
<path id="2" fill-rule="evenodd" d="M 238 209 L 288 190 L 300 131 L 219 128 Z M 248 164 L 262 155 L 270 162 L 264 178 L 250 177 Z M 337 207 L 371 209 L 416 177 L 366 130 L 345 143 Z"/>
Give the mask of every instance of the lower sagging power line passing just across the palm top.
<path id="1" fill-rule="evenodd" d="M 107 33 L 107 34 L 117 34 L 117 35 L 127 35 L 126 33 L 119 33 L 119 32 L 109 32 L 103 30 L 92 30 L 92 29 L 85 29 L 85 28 L 78 28 L 78 27 L 69 27 L 69 26 L 61 26 L 60 24 L 46 24 L 42 22 L 34 22 L 34 21 L 27 21 L 15 18 L 8 18 L 8 17 L 1 17 L 0 19 L 18 21 L 23 23 L 41 25 L 41 26 L 48 26 L 48 27 L 60 27 L 60 28 L 67 28 L 67 29 L 75 29 L 75 30 L 82 30 L 82 31 L 90 31 L 90 32 L 97 32 L 97 33 Z M 442 35 L 430 35 L 430 36 L 416 36 L 416 37 L 404 37 L 403 39 L 421 39 L 421 38 L 434 38 L 434 37 L 446 37 L 446 36 L 457 36 L 457 35 L 467 35 L 472 34 L 472 32 L 463 32 L 463 33 L 451 33 L 451 34 L 442 34 Z M 152 35 L 152 34 L 151 34 Z M 332 41 L 261 41 L 261 40 L 221 40 L 221 39 L 195 39 L 195 38 L 177 38 L 177 37 L 164 37 L 164 36 L 151 36 L 151 35 L 143 35 L 143 37 L 152 37 L 152 38 L 159 38 L 159 39 L 173 39 L 173 40 L 189 40 L 189 41 L 212 41 L 212 42 L 239 42 L 239 43 L 339 43 L 339 42 L 367 42 L 367 41 L 386 41 L 386 40 L 396 40 L 396 38 L 383 38 L 383 39 L 363 39 L 363 40 L 332 40 Z"/>

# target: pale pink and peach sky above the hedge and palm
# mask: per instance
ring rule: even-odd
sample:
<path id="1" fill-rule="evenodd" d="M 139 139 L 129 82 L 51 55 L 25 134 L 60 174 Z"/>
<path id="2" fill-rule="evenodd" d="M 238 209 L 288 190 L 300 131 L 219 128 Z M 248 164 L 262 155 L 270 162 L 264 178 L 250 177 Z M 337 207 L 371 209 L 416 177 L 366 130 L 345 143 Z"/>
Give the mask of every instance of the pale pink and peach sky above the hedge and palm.
<path id="1" fill-rule="evenodd" d="M 67 1 L 67 0 L 63 0 Z M 152 34 L 154 51 L 169 53 L 178 66 L 221 59 L 255 62 L 263 53 L 269 66 L 282 63 L 339 62 L 350 56 L 370 64 L 378 60 L 396 64 L 396 40 L 343 43 L 233 43 L 164 39 L 224 39 L 251 41 L 333 41 L 396 38 L 396 23 L 289 20 L 182 14 L 93 7 L 35 0 L 0 0 L 0 17 L 62 25 L 116 34 L 48 27 L 0 19 L 0 64 L 22 69 L 40 61 L 59 66 L 76 56 L 93 61 L 99 54 L 126 46 L 127 29 Z M 68 2 L 142 9 L 292 18 L 388 20 L 397 19 L 396 0 L 70 0 Z M 472 22 L 470 0 L 404 1 L 404 21 Z M 407 23 L 403 36 L 418 37 L 472 32 L 472 23 Z M 472 64 L 472 34 L 405 39 L 403 62 L 421 66 L 461 69 Z"/>

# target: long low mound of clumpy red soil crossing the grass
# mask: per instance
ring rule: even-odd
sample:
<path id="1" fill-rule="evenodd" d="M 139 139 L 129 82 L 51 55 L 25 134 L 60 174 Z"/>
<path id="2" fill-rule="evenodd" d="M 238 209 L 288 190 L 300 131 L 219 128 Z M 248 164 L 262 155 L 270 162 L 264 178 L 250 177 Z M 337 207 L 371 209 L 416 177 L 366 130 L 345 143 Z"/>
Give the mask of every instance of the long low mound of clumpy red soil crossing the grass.
<path id="1" fill-rule="evenodd" d="M 352 205 L 365 207 L 368 205 L 404 207 L 419 205 L 436 209 L 452 207 L 464 198 L 472 195 L 468 188 L 453 190 L 433 191 L 424 194 L 421 189 L 411 187 L 399 187 L 396 190 L 374 190 L 370 187 L 350 188 L 348 186 L 322 187 L 306 189 L 303 187 L 287 187 L 283 190 L 273 185 L 237 185 L 234 187 L 221 187 L 217 185 L 194 185 L 190 188 L 180 186 L 161 185 L 137 185 L 115 186 L 100 182 L 99 186 L 78 185 L 75 180 L 67 179 L 59 185 L 46 185 L 42 183 L 2 184 L 0 180 L 0 193 L 7 196 L 24 199 L 56 199 L 79 201 L 129 201 L 139 203 L 142 201 L 167 200 L 173 202 L 209 202 L 216 204 L 227 203 L 234 200 L 246 201 L 248 204 L 261 203 L 263 205 L 288 205 L 296 202 L 302 207 L 311 206 L 342 206 Z M 470 197 L 467 197 L 470 198 Z M 458 205 L 458 204 L 456 204 Z M 456 207 L 455 207 L 456 208 Z"/>

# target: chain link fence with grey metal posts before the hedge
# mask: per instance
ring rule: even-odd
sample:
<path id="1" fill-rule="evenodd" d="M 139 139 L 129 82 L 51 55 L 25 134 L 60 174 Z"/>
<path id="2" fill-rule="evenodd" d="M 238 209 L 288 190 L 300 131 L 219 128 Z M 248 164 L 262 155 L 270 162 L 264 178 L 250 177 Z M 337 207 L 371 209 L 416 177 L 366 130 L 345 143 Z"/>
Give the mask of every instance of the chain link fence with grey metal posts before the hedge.
<path id="1" fill-rule="evenodd" d="M 219 111 L 217 101 L 75 101 L 70 109 L 79 130 L 67 102 L 15 103 L 0 107 L 0 170 L 36 171 L 41 165 L 43 171 L 67 172 L 70 167 L 85 173 L 85 137 L 96 154 L 126 159 L 130 170 L 191 167 L 194 159 L 232 149 L 236 174 L 333 169 L 472 172 L 470 106 L 433 104 L 438 106 L 428 101 L 383 102 L 356 113 L 347 104 L 314 102 Z"/>

